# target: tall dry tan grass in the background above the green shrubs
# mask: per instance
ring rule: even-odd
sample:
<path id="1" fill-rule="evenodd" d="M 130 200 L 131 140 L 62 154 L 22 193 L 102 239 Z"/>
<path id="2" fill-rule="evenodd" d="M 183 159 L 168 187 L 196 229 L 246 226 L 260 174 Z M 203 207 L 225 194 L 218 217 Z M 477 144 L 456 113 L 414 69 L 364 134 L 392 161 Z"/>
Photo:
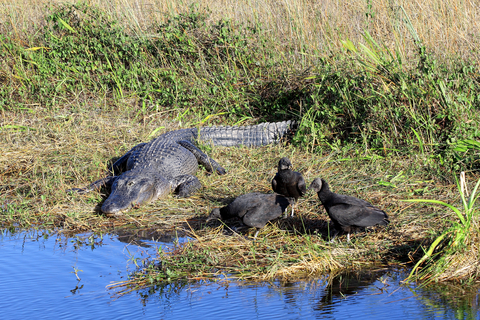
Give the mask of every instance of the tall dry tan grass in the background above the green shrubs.
<path id="1" fill-rule="evenodd" d="M 41 25 L 44 7 L 49 3 L 75 1 L 19 0 L 0 2 L 0 32 L 12 31 L 28 46 L 32 26 Z M 209 11 L 210 19 L 224 18 L 242 23 L 260 24 L 267 38 L 292 65 L 315 61 L 318 55 L 328 56 L 342 49 L 341 41 L 363 42 L 368 30 L 379 43 L 392 52 L 398 49 L 405 62 L 417 51 L 411 25 L 429 52 L 437 56 L 479 61 L 480 7 L 473 1 L 428 0 L 387 1 L 357 0 L 89 0 L 110 15 L 119 18 L 131 32 L 150 36 L 152 22 L 165 22 L 165 13 L 188 12 L 195 4 L 200 11 Z"/>

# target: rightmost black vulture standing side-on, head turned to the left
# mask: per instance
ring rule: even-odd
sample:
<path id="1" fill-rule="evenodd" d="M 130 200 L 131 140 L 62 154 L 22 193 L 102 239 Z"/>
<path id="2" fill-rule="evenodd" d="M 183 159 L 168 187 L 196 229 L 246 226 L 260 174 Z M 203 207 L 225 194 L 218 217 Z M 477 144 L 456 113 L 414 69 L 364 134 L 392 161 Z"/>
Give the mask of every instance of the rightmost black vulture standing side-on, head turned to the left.
<path id="1" fill-rule="evenodd" d="M 334 233 L 331 240 L 343 231 L 347 232 L 350 241 L 351 228 L 387 225 L 387 214 L 369 202 L 351 196 L 336 194 L 330 191 L 328 183 L 320 178 L 313 180 L 309 189 L 315 190 L 328 216 L 332 219 Z"/>

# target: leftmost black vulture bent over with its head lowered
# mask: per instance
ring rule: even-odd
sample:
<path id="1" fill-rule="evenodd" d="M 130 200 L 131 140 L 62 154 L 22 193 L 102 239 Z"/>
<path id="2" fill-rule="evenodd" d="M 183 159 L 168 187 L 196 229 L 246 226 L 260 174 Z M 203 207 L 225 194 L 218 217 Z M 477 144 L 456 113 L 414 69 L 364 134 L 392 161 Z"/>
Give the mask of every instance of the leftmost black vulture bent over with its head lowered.
<path id="1" fill-rule="evenodd" d="M 290 199 L 279 194 L 247 193 L 239 196 L 232 203 L 215 208 L 208 216 L 213 219 L 226 220 L 240 218 L 244 225 L 257 228 L 254 238 L 268 221 L 280 217 L 290 205 Z"/>

